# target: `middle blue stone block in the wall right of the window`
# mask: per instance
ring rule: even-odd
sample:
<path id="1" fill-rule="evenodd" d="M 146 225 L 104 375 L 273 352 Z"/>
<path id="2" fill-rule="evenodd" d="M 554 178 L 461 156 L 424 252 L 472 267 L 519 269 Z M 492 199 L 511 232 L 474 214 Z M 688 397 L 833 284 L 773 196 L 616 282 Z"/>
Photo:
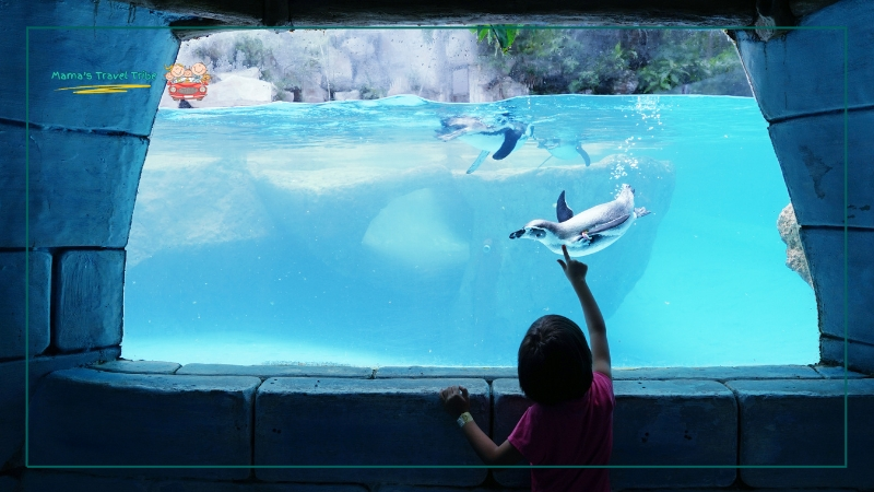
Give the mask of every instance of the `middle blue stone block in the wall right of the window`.
<path id="1" fill-rule="evenodd" d="M 847 225 L 874 227 L 874 148 L 867 143 L 874 109 L 849 112 L 847 118 L 846 128 L 843 113 L 829 113 L 768 129 L 802 226 L 843 227 L 846 212 Z"/>

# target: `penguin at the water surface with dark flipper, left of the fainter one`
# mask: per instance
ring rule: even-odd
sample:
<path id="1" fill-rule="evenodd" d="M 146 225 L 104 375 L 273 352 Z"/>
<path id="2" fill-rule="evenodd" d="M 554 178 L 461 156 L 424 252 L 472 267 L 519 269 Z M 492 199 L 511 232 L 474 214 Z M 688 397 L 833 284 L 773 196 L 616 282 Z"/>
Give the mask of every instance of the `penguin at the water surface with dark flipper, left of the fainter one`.
<path id="1" fill-rule="evenodd" d="M 487 126 L 480 118 L 471 116 L 457 116 L 445 118 L 442 129 L 438 130 L 437 138 L 444 142 L 459 139 L 462 142 L 480 149 L 480 155 L 468 168 L 468 174 L 476 171 L 489 153 L 492 159 L 500 161 L 510 155 L 510 152 L 524 145 L 529 137 L 534 134 L 534 127 L 519 121 L 508 121 L 500 126 Z"/>

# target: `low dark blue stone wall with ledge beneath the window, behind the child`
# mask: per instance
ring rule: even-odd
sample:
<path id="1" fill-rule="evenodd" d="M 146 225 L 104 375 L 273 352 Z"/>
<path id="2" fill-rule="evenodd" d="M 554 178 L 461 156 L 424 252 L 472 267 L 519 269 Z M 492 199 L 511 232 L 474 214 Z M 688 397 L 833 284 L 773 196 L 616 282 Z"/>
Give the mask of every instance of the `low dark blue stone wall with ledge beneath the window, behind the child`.
<path id="1" fill-rule="evenodd" d="M 438 396 L 452 384 L 468 387 L 474 420 L 500 443 L 531 405 L 515 373 L 129 361 L 57 371 L 32 399 L 31 466 L 147 468 L 33 469 L 23 483 L 26 490 L 61 482 L 71 484 L 64 490 L 527 489 L 528 469 L 482 465 Z M 870 489 L 874 471 L 863 464 L 874 460 L 867 445 L 874 429 L 866 424 L 874 378 L 847 376 L 849 468 L 842 468 L 840 367 L 614 370 L 611 465 L 629 468 L 611 470 L 613 489 Z M 795 465 L 810 468 L 744 468 Z M 838 468 L 816 468 L 823 466 Z"/>

